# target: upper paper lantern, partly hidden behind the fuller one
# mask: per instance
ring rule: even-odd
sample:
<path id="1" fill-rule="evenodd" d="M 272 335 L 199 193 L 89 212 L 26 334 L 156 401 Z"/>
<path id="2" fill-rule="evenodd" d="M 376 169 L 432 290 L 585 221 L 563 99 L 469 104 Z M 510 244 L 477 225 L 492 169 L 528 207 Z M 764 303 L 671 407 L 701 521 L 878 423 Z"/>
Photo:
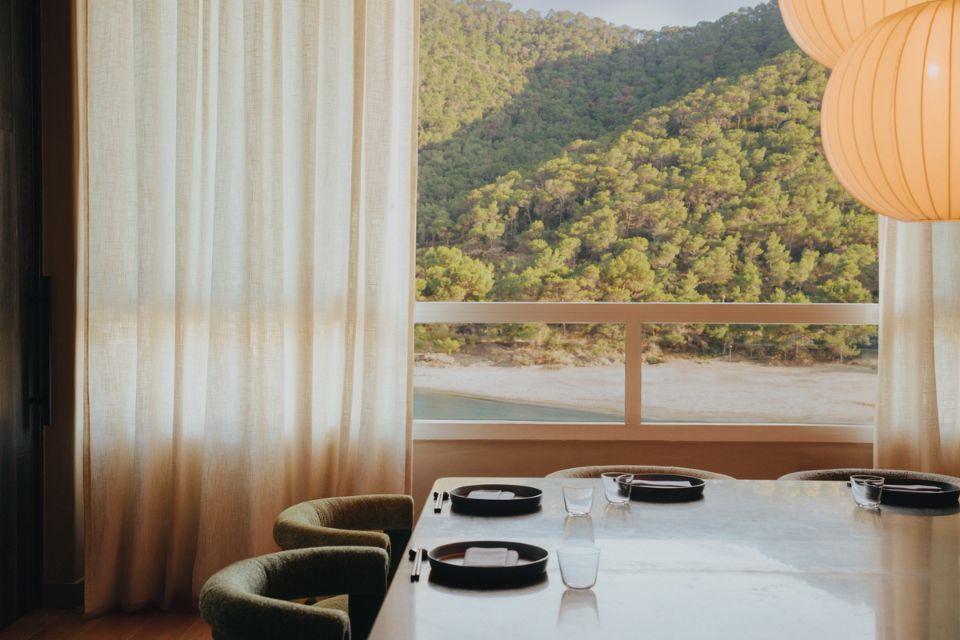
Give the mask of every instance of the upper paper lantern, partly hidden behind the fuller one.
<path id="1" fill-rule="evenodd" d="M 867 29 L 889 15 L 927 1 L 780 0 L 780 14 L 797 45 L 832 69 Z"/>

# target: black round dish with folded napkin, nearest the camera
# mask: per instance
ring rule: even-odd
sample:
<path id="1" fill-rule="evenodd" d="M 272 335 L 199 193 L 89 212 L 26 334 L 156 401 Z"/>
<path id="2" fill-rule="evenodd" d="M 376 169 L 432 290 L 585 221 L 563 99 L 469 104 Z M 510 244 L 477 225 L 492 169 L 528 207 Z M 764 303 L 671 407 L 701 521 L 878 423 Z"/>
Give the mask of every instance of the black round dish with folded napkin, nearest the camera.
<path id="1" fill-rule="evenodd" d="M 516 551 L 520 560 L 512 567 L 465 567 L 463 554 L 470 547 L 505 547 Z M 532 544 L 474 540 L 434 547 L 427 552 L 427 559 L 430 561 L 431 581 L 455 587 L 500 589 L 542 580 L 549 555 L 546 549 Z"/>

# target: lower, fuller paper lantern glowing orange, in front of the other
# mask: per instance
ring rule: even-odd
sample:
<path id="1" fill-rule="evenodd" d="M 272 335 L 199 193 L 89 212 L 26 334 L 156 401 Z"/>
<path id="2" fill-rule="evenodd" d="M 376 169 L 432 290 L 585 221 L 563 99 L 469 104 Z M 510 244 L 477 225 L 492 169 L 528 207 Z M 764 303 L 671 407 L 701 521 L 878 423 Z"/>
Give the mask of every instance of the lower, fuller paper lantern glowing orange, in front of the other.
<path id="1" fill-rule="evenodd" d="M 821 134 L 837 178 L 900 220 L 960 218 L 960 0 L 884 18 L 840 59 Z"/>

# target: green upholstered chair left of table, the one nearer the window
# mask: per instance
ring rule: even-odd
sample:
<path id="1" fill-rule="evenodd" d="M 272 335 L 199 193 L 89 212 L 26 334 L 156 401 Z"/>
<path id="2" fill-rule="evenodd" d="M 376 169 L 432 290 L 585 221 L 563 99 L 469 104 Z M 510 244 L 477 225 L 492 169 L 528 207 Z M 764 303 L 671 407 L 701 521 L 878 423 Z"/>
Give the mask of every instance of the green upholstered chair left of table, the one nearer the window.
<path id="1" fill-rule="evenodd" d="M 322 498 L 284 509 L 273 525 L 281 549 L 355 545 L 377 547 L 400 564 L 413 529 L 413 498 L 382 494 Z"/>

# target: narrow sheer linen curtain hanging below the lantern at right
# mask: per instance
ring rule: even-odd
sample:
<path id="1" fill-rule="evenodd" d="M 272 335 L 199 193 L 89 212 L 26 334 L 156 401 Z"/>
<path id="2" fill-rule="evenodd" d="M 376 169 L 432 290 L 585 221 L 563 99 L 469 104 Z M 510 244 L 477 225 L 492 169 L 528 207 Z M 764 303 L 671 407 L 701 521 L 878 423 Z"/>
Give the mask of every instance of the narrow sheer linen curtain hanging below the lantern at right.
<path id="1" fill-rule="evenodd" d="M 960 476 L 960 224 L 880 219 L 874 463 Z"/>

